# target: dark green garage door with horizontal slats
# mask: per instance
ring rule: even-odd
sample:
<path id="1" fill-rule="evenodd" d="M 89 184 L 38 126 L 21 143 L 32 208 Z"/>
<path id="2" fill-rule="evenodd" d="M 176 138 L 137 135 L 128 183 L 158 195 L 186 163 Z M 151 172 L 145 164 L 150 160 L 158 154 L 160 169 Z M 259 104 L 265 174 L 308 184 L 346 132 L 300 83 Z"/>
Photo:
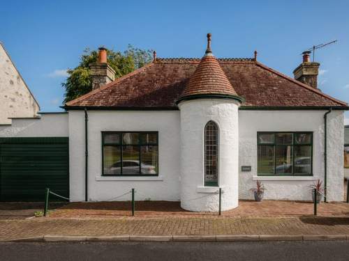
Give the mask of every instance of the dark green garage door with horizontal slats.
<path id="1" fill-rule="evenodd" d="M 69 197 L 68 138 L 0 138 L 0 201 Z M 50 196 L 52 200 L 59 200 Z"/>

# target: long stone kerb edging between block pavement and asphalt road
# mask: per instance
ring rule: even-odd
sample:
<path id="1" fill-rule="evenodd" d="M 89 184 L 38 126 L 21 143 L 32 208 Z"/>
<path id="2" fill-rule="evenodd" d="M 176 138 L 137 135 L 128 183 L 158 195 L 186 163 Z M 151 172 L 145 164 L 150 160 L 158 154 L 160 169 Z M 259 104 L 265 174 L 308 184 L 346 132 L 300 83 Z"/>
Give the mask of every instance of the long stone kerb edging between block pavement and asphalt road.
<path id="1" fill-rule="evenodd" d="M 60 236 L 25 237 L 0 242 L 265 242 L 349 240 L 349 235 L 171 235 L 171 236 Z"/>

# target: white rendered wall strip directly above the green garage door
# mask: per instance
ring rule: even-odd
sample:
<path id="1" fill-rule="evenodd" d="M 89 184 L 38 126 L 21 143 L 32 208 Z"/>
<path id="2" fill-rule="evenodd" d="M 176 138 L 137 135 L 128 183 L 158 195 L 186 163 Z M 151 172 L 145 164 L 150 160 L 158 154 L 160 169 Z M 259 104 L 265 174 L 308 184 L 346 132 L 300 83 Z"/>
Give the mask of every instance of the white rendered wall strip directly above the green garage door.
<path id="1" fill-rule="evenodd" d="M 68 113 L 13 119 L 12 125 L 0 125 L 0 137 L 68 137 Z"/>

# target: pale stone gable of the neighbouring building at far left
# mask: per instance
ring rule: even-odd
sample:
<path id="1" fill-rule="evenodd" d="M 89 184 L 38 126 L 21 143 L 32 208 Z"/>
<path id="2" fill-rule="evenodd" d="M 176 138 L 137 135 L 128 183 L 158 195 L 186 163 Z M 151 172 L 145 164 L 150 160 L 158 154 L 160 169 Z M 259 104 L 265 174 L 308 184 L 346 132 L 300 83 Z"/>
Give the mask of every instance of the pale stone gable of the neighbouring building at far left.
<path id="1" fill-rule="evenodd" d="M 10 118 L 33 118 L 40 107 L 0 42 L 0 125 Z"/>

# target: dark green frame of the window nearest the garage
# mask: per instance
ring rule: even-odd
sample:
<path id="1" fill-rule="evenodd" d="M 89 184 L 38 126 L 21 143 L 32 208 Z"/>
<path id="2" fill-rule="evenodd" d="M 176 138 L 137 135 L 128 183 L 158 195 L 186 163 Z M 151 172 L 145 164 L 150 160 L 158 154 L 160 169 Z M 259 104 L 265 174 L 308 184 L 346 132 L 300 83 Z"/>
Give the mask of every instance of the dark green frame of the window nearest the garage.
<path id="1" fill-rule="evenodd" d="M 126 134 L 126 133 L 137 133 L 139 134 L 139 139 L 138 139 L 138 144 L 135 144 L 135 143 L 131 143 L 131 144 L 124 144 L 124 141 L 123 141 L 123 134 Z M 117 144 L 117 143 L 104 143 L 104 136 L 106 134 L 119 134 L 120 135 L 120 142 Z M 141 139 L 141 134 L 156 134 L 156 143 L 149 143 L 149 144 L 146 144 L 146 143 L 142 143 L 142 139 Z M 141 155 L 142 155 L 142 146 L 157 146 L 159 148 L 159 145 L 158 145 L 158 132 L 156 131 L 149 131 L 149 132 L 137 132 L 137 131 L 130 131 L 130 132 L 113 132 L 113 131 L 105 131 L 105 132 L 101 132 L 101 137 L 102 137 L 102 140 L 101 140 L 101 150 L 102 150 L 102 176 L 104 177 L 158 177 L 159 175 L 159 172 L 160 172 L 160 168 L 159 168 L 159 162 L 158 162 L 158 151 L 157 151 L 157 154 L 156 154 L 156 161 L 157 161 L 157 173 L 156 174 L 141 174 Z M 121 152 L 121 155 L 120 155 L 120 161 L 121 161 L 121 169 L 120 169 L 120 174 L 105 174 L 104 173 L 104 145 L 114 145 L 114 146 L 119 146 L 120 147 L 120 152 Z M 138 157 L 139 157 L 139 160 L 140 160 L 140 173 L 138 174 L 123 174 L 122 173 L 122 168 L 123 168 L 123 155 L 124 155 L 124 150 L 123 148 L 125 146 L 138 146 L 138 149 L 139 149 L 139 154 L 138 154 Z"/>

